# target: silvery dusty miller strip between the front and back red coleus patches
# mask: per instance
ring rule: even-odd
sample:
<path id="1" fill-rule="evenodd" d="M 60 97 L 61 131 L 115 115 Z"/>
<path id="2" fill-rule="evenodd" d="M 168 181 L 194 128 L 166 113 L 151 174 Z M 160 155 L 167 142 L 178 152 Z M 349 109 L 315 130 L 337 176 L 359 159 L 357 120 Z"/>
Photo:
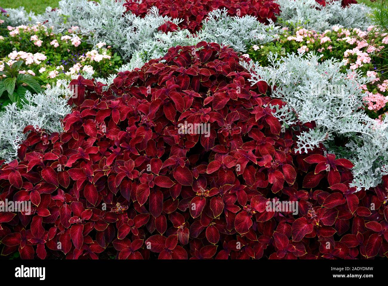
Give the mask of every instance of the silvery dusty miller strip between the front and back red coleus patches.
<path id="1" fill-rule="evenodd" d="M 198 42 L 215 42 L 229 45 L 235 51 L 246 51 L 251 43 L 264 44 L 277 37 L 280 26 L 273 23 L 265 25 L 252 16 L 229 16 L 227 10 L 217 9 L 203 20 L 202 28 L 196 35 L 183 29 L 168 33 L 156 32 L 152 37 L 144 37 L 138 50 L 134 51 L 129 63 L 118 71 L 132 70 L 142 66 L 150 59 L 164 56 L 170 47 L 177 45 L 196 45 Z"/>

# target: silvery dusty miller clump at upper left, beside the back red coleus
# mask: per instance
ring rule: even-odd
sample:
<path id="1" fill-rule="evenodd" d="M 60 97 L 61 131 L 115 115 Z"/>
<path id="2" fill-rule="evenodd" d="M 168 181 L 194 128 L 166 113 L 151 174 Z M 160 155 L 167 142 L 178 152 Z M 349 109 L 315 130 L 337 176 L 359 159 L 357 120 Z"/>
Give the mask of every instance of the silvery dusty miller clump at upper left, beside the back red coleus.
<path id="1" fill-rule="evenodd" d="M 51 7 L 47 7 L 40 18 L 42 21 L 47 19 L 47 25 L 53 26 L 55 33 L 78 26 L 90 44 L 106 42 L 127 60 L 143 41 L 153 37 L 165 21 L 180 22 L 179 19 L 160 16 L 156 7 L 152 7 L 144 18 L 125 14 L 125 10 L 122 1 L 61 0 L 58 9 L 51 11 Z"/>

